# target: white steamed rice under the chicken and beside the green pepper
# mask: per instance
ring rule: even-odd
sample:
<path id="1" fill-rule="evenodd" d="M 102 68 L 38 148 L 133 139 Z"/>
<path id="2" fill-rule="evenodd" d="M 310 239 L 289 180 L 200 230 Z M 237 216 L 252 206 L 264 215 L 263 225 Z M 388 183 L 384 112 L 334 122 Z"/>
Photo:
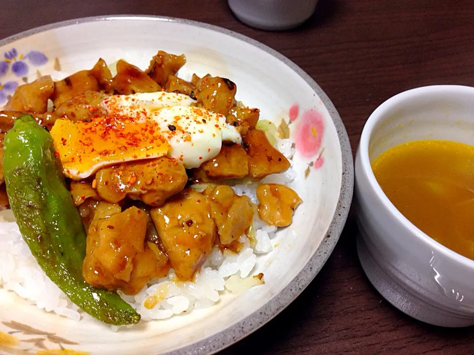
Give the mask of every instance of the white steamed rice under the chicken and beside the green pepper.
<path id="1" fill-rule="evenodd" d="M 289 140 L 278 140 L 278 149 L 287 158 L 294 154 Z M 295 172 L 290 168 L 285 173 L 268 176 L 263 182 L 289 183 L 294 178 Z M 253 203 L 258 203 L 256 186 L 256 183 L 247 182 L 233 188 L 238 195 L 246 195 Z M 257 214 L 253 227 L 254 243 L 243 235 L 239 239 L 243 247 L 238 253 L 213 249 L 193 282 L 179 282 L 171 269 L 165 278 L 152 280 L 134 296 L 118 293 L 140 313 L 142 321 L 150 321 L 210 307 L 219 301 L 224 292 L 240 293 L 259 284 L 259 280 L 253 278 L 253 270 L 259 255 L 273 250 L 271 240 L 277 228 L 260 220 Z M 46 312 L 72 320 L 84 317 L 83 311 L 41 270 L 18 230 L 11 210 L 0 212 L 0 259 L 0 287 L 17 293 Z M 153 295 L 157 296 L 158 302 L 148 309 L 145 301 Z M 112 329 L 117 330 L 118 327 L 112 326 Z"/>

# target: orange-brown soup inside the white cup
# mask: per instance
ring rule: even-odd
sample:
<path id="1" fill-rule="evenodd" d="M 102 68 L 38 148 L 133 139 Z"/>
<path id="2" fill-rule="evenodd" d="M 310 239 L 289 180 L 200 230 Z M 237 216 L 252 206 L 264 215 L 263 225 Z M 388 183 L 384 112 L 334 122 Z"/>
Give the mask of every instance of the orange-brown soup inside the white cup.
<path id="1" fill-rule="evenodd" d="M 382 153 L 372 170 L 406 218 L 437 242 L 474 259 L 474 146 L 407 142 Z"/>

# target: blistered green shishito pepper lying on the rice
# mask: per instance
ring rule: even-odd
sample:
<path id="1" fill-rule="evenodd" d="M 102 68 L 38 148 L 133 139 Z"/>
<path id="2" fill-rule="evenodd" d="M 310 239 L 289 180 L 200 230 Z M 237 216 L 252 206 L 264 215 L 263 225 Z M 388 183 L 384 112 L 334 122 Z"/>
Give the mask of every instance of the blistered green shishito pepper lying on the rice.
<path id="1" fill-rule="evenodd" d="M 10 206 L 46 275 L 92 317 L 113 325 L 138 323 L 140 315 L 117 293 L 92 287 L 82 277 L 86 233 L 49 133 L 24 115 L 5 135 L 4 149 Z"/>

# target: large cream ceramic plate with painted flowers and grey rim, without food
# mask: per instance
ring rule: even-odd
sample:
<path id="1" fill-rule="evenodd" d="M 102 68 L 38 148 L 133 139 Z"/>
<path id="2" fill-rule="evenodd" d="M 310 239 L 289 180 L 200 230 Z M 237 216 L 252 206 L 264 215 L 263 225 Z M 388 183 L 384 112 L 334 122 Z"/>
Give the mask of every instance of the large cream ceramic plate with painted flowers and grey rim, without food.
<path id="1" fill-rule="evenodd" d="M 102 57 L 146 69 L 158 49 L 184 53 L 180 76 L 230 78 L 237 100 L 258 107 L 295 143 L 291 185 L 303 198 L 293 224 L 280 229 L 274 250 L 253 274 L 265 284 L 213 307 L 113 332 L 39 310 L 0 288 L 0 352 L 15 354 L 207 354 L 229 346 L 276 316 L 319 272 L 343 229 L 353 193 L 353 159 L 344 125 L 324 92 L 273 49 L 214 26 L 172 18 L 86 18 L 34 29 L 0 41 L 0 106 L 17 84 L 54 69 L 90 69 Z M 46 351 L 45 349 L 48 349 Z"/>

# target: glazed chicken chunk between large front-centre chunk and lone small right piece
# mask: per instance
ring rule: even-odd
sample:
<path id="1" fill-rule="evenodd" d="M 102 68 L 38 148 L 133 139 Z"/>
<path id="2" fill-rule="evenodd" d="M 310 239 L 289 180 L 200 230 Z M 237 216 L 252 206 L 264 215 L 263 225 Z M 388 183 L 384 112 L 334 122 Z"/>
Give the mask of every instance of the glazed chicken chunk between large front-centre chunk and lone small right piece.
<path id="1" fill-rule="evenodd" d="M 217 226 L 221 245 L 229 246 L 252 225 L 253 206 L 247 196 L 238 196 L 228 185 L 204 191 L 211 205 L 212 218 Z"/>

